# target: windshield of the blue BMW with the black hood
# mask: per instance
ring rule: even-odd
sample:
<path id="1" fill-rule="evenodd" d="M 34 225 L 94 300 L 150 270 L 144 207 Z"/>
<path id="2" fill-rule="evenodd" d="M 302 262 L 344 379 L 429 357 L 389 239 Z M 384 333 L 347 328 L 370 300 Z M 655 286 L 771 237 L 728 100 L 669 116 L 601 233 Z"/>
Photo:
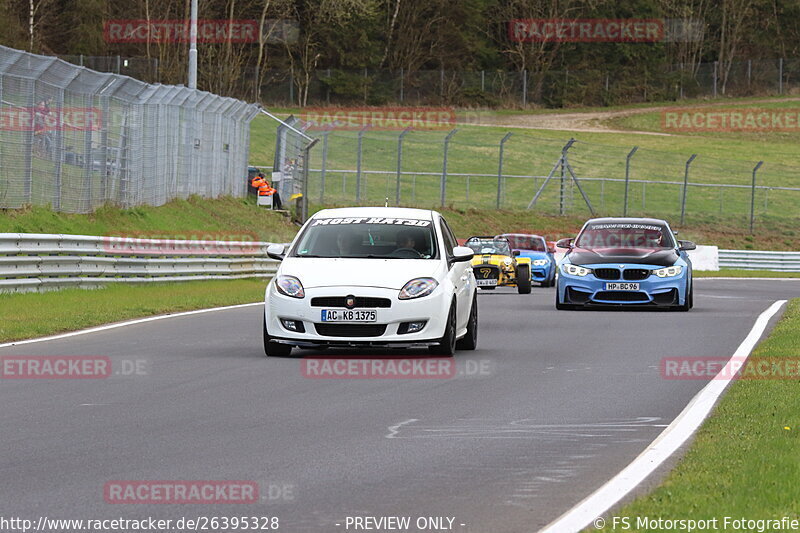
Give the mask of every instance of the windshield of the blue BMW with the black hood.
<path id="1" fill-rule="evenodd" d="M 578 236 L 579 248 L 674 248 L 669 230 L 639 223 L 591 224 Z"/>

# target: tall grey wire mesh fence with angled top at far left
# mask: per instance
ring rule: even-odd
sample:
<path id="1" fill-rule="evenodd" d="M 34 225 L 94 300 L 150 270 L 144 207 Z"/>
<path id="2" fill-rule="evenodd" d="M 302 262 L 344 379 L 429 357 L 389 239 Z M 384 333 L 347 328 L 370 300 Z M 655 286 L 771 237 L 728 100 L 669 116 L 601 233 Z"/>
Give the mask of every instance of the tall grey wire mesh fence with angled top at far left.
<path id="1" fill-rule="evenodd" d="M 252 104 L 0 47 L 0 208 L 246 193 Z"/>

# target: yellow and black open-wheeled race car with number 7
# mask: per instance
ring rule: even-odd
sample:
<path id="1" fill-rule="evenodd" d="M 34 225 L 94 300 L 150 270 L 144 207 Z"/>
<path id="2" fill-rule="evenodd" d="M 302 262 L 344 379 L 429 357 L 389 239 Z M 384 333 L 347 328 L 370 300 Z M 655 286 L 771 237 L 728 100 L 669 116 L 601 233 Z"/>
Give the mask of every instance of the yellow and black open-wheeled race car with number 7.
<path id="1" fill-rule="evenodd" d="M 479 288 L 516 287 L 520 294 L 530 294 L 531 260 L 518 257 L 519 250 L 512 251 L 507 238 L 470 237 L 465 246 L 475 252 L 472 271 Z"/>

